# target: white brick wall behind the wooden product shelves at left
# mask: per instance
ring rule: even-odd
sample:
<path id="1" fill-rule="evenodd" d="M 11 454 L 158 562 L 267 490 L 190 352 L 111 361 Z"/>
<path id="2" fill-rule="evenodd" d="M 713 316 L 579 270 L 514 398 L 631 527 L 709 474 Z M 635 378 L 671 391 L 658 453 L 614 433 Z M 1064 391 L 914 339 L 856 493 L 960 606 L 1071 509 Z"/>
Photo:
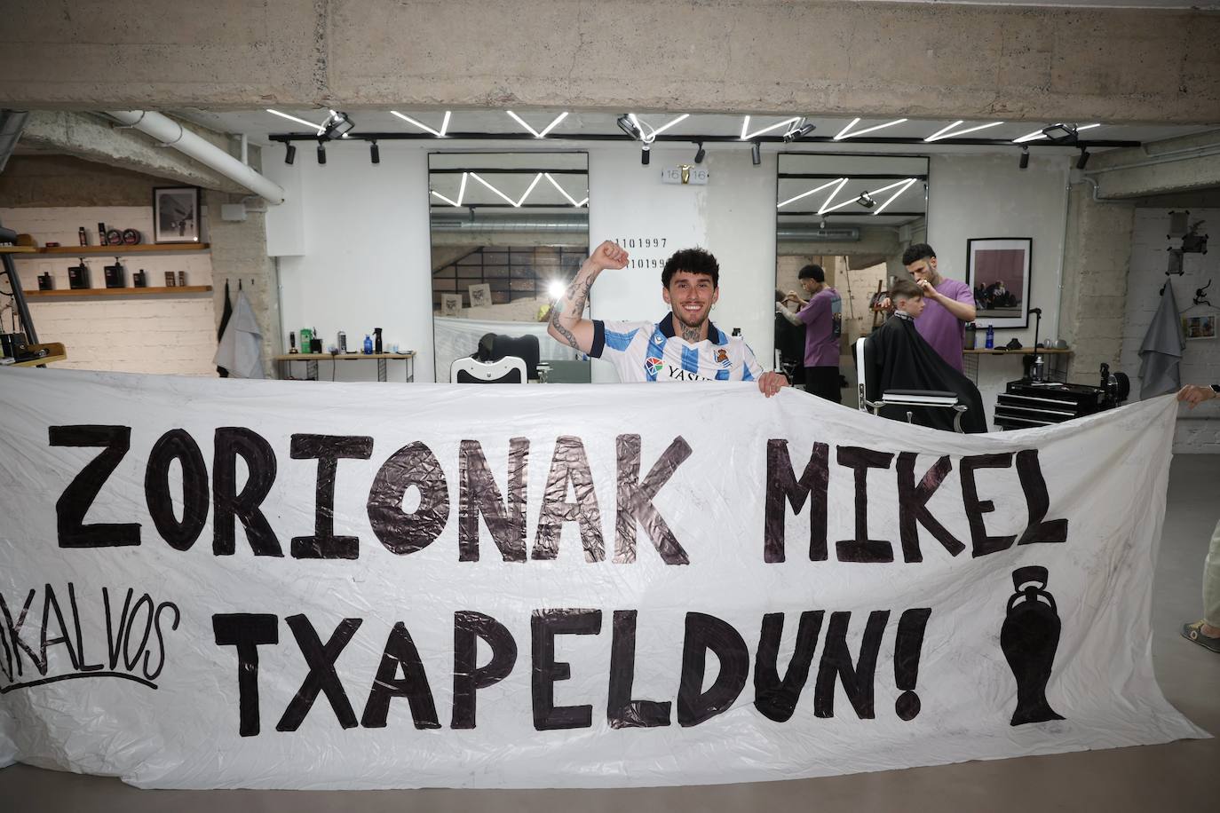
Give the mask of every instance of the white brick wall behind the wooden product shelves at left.
<path id="1" fill-rule="evenodd" d="M 77 229 L 84 227 L 89 244 L 98 245 L 98 223 L 107 228 L 134 228 L 144 241 L 152 236 L 151 206 L 0 208 L 0 222 L 29 233 L 39 245 L 57 241 L 78 244 Z M 93 255 L 84 258 L 94 288 L 105 286 L 104 266 L 115 258 Z M 137 271 L 148 274 L 150 288 L 165 285 L 165 272 L 187 272 L 188 285 L 211 285 L 211 257 L 204 252 L 133 254 L 121 260 L 127 285 Z M 38 275 L 50 272 L 55 289 L 68 288 L 71 255 L 35 256 L 16 260 L 26 290 L 38 288 Z M 105 369 L 126 373 L 170 373 L 215 375 L 216 312 L 211 294 L 146 295 L 81 300 L 30 300 L 29 313 L 41 341 L 62 341 L 68 360 L 57 368 Z M 7 322 L 6 322 L 7 325 Z"/>

